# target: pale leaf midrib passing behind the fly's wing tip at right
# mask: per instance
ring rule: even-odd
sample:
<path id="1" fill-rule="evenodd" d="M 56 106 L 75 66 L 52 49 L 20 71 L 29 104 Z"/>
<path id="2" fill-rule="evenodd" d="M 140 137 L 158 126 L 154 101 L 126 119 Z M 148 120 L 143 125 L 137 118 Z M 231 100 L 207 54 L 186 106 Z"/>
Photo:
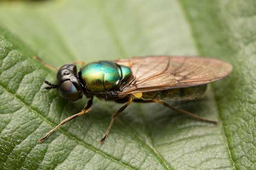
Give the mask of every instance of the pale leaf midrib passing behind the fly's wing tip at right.
<path id="1" fill-rule="evenodd" d="M 196 34 L 195 34 L 195 29 L 196 29 L 196 28 L 195 28 L 195 26 L 193 25 L 192 17 L 190 16 L 188 10 L 186 10 L 186 5 L 185 5 L 185 3 L 184 3 L 182 0 L 181 0 L 181 1 L 178 0 L 178 2 L 179 2 L 179 4 L 180 4 L 181 9 L 183 9 L 182 11 L 183 11 L 184 17 L 186 18 L 187 22 L 189 23 L 188 26 L 189 26 L 189 28 L 190 28 L 190 30 L 191 30 L 191 34 L 192 34 L 193 40 L 194 40 L 194 42 L 195 42 L 195 46 L 196 46 L 196 48 L 197 48 L 199 54 L 203 54 L 203 50 L 202 50 L 202 47 L 201 47 L 201 43 L 198 41 L 198 37 L 196 37 Z M 221 121 L 220 121 L 220 123 L 221 123 L 221 129 L 222 129 L 221 132 L 222 132 L 222 134 L 223 134 L 223 136 L 224 136 L 224 139 L 225 139 L 225 141 L 226 141 L 226 143 L 227 143 L 227 152 L 228 152 L 228 155 L 229 155 L 229 159 L 230 159 L 230 161 L 231 161 L 232 164 L 233 164 L 233 169 L 236 170 L 237 167 L 235 166 L 235 163 L 234 163 L 234 160 L 233 160 L 232 152 L 231 152 L 231 150 L 230 150 L 230 144 L 229 144 L 229 142 L 228 142 L 228 140 L 227 140 L 227 133 L 226 133 L 226 131 L 225 131 L 225 129 L 224 129 L 223 122 L 222 122 L 222 119 L 223 119 L 223 118 L 222 118 L 222 116 L 221 116 L 221 114 L 220 114 L 220 108 L 218 107 L 218 102 L 217 102 L 217 100 L 216 100 L 216 98 L 215 98 L 214 91 L 212 91 L 212 94 L 213 94 L 213 101 L 214 101 L 215 106 L 216 106 L 216 108 L 217 108 L 217 110 L 218 110 L 218 117 L 219 117 L 220 120 L 221 120 Z"/>

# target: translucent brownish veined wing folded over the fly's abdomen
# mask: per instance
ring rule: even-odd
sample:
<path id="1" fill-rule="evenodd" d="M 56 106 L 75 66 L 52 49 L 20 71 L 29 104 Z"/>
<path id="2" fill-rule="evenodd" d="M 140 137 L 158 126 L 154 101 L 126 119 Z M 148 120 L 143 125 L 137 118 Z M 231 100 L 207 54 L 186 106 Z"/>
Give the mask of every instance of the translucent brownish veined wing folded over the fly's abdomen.
<path id="1" fill-rule="evenodd" d="M 130 67 L 133 74 L 133 79 L 120 89 L 119 96 L 203 85 L 232 71 L 229 63 L 205 57 L 149 56 L 115 62 Z"/>

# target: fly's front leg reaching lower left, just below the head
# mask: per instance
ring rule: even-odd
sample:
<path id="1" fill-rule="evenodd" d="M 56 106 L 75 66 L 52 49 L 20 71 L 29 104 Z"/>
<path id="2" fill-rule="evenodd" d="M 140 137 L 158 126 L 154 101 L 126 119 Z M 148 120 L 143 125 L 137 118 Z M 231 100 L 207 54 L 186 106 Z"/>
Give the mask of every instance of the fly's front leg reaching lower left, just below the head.
<path id="1" fill-rule="evenodd" d="M 79 113 L 76 113 L 66 119 L 64 119 L 60 124 L 58 124 L 58 126 L 56 126 L 54 129 L 50 130 L 43 138 L 38 139 L 38 142 L 42 143 L 44 142 L 45 139 L 48 138 L 48 136 L 50 136 L 50 134 L 52 134 L 52 132 L 54 132 L 55 130 L 57 130 L 59 127 L 61 127 L 61 125 L 64 125 L 66 122 L 75 119 L 77 116 L 81 116 L 84 113 L 87 113 L 90 111 L 91 106 L 93 105 L 93 98 L 90 98 L 87 102 L 87 104 L 84 106 L 83 110 Z"/>

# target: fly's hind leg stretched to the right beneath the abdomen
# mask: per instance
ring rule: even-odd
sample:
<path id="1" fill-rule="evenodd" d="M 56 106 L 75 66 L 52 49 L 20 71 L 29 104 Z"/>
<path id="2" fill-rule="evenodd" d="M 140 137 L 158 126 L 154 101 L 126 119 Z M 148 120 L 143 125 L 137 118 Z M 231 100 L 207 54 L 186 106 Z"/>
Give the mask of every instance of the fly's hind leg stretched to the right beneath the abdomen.
<path id="1" fill-rule="evenodd" d="M 213 123 L 213 124 L 215 124 L 215 125 L 218 125 L 218 122 L 217 122 L 217 121 L 210 120 L 210 119 L 206 119 L 206 118 L 197 116 L 197 115 L 194 114 L 194 113 L 185 111 L 185 110 L 183 110 L 183 109 L 178 109 L 178 108 L 172 107 L 172 106 L 169 105 L 168 103 L 162 102 L 162 101 L 160 101 L 160 100 L 152 100 L 152 102 L 160 103 L 160 104 L 164 105 L 164 106 L 167 107 L 167 108 L 170 108 L 170 109 L 172 109 L 172 110 L 174 110 L 174 111 L 177 111 L 178 113 L 182 113 L 182 114 L 186 114 L 186 115 L 188 115 L 188 116 L 191 116 L 191 117 L 194 118 L 194 119 L 198 119 L 198 120 L 201 120 L 201 121 L 204 121 L 204 122 L 209 122 L 209 123 Z"/>

